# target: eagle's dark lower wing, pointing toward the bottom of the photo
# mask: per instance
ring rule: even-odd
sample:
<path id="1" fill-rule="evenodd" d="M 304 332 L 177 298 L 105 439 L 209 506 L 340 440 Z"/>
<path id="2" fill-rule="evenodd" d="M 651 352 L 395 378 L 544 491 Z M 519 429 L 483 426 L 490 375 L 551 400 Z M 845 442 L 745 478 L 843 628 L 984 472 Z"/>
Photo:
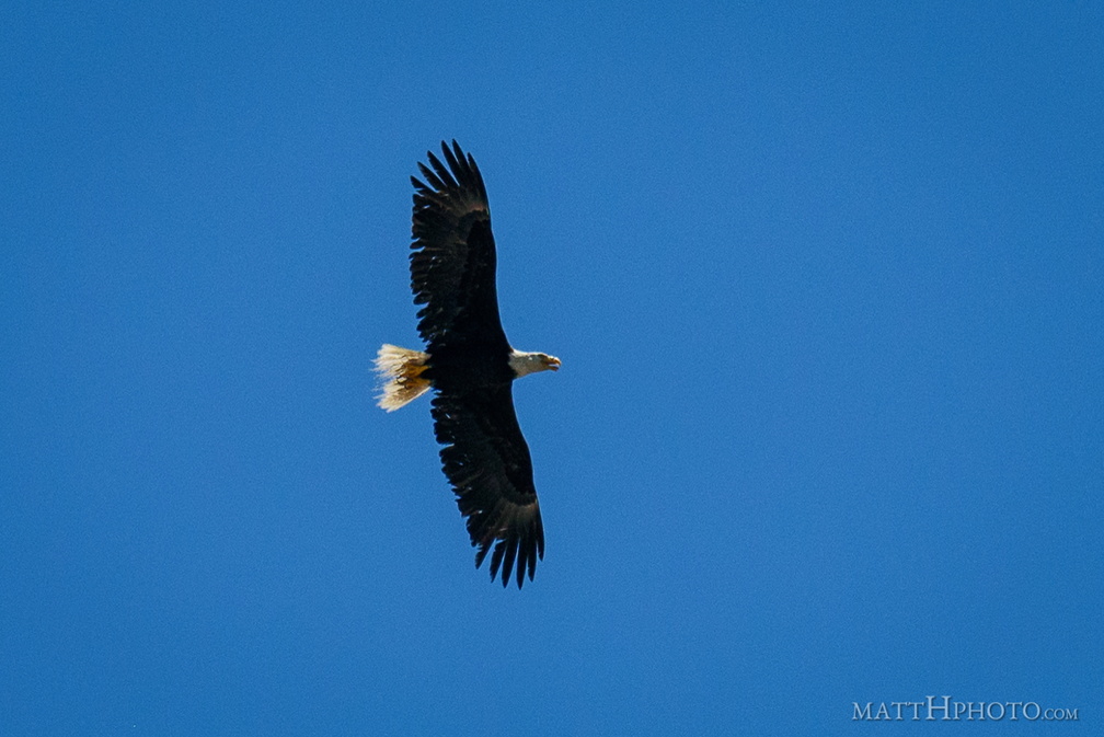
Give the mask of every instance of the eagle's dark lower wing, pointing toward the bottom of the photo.
<path id="1" fill-rule="evenodd" d="M 518 588 L 544 557 L 544 527 L 533 485 L 533 462 L 518 426 L 510 383 L 491 391 L 442 392 L 433 400 L 434 431 L 456 504 L 467 517 L 476 567 L 495 543 L 490 577 L 509 583 L 517 563 Z"/>

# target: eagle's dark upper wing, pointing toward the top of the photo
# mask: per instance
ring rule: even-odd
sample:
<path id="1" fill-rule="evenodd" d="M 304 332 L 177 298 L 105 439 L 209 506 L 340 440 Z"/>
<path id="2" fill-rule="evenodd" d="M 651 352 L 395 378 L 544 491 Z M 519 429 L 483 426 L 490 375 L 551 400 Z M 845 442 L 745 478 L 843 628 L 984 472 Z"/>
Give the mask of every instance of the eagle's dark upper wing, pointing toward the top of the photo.
<path id="1" fill-rule="evenodd" d="M 442 141 L 446 168 L 433 152 L 414 184 L 411 288 L 418 332 L 431 354 L 463 343 L 510 350 L 498 312 L 495 236 L 482 175 L 470 153 Z"/>

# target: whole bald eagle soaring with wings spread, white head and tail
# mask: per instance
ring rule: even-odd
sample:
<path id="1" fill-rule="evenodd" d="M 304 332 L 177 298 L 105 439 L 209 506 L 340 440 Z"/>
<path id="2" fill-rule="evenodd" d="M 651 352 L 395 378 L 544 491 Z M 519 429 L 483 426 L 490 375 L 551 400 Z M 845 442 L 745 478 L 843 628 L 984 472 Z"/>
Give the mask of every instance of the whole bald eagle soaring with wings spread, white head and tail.
<path id="1" fill-rule="evenodd" d="M 440 462 L 456 494 L 476 568 L 493 546 L 490 577 L 518 588 L 544 558 L 533 463 L 513 410 L 513 380 L 560 360 L 510 348 L 498 313 L 495 237 L 482 175 L 470 153 L 442 141 L 414 184 L 411 288 L 425 351 L 384 344 L 375 359 L 380 406 L 393 412 L 431 387 Z"/>

